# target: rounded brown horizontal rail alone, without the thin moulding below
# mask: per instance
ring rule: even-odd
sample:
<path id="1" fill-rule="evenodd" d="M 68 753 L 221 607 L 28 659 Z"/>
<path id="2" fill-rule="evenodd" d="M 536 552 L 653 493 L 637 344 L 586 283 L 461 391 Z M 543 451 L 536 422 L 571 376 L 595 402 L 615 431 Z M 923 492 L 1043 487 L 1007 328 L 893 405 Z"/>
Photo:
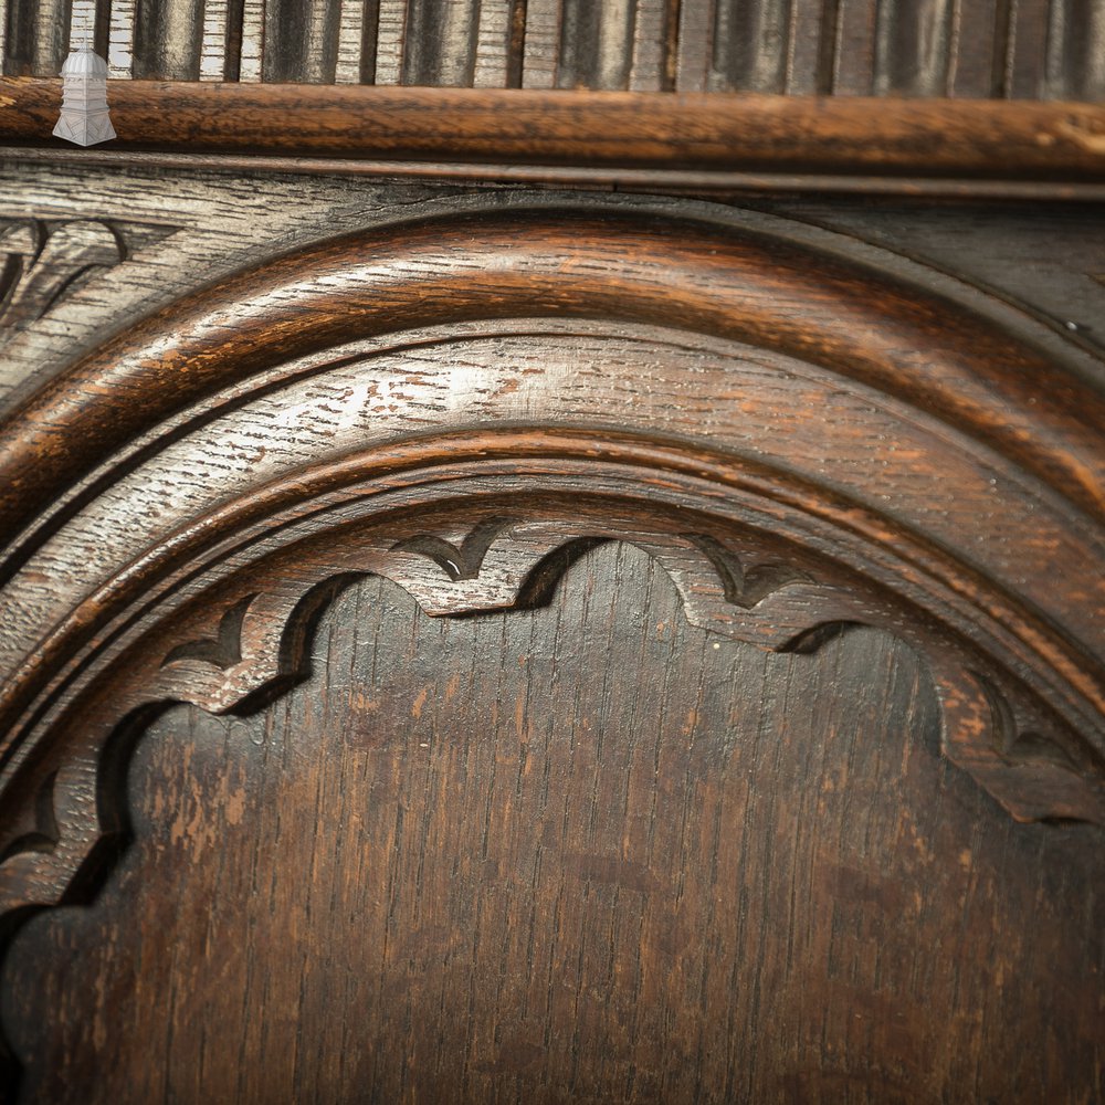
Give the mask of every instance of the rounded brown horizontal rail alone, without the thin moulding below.
<path id="1" fill-rule="evenodd" d="M 0 80 L 0 140 L 59 145 L 57 81 Z M 962 176 L 1105 178 L 1090 104 L 649 96 L 536 90 L 113 83 L 113 148 Z"/>

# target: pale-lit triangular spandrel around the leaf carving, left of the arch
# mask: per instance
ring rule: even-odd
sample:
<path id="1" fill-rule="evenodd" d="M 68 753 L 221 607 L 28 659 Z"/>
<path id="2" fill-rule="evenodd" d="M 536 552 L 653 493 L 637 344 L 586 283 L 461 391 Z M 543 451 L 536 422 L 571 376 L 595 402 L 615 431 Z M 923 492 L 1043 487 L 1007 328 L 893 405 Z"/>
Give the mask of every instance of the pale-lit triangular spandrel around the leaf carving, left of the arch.
<path id="1" fill-rule="evenodd" d="M 59 266 L 51 280 L 64 285 L 63 294 L 45 315 L 36 323 L 6 328 L 0 406 L 7 408 L 72 359 L 82 345 L 97 344 L 189 288 L 220 280 L 282 248 L 274 243 L 294 245 L 334 227 L 362 225 L 366 212 L 388 218 L 386 212 L 403 211 L 412 198 L 430 194 L 421 186 L 412 191 L 316 180 L 303 187 L 294 178 L 283 183 L 270 179 L 261 186 L 218 175 L 133 177 L 87 166 L 66 180 L 64 172 L 35 172 L 10 164 L 0 191 L 6 235 L 19 231 L 23 236 L 21 228 L 41 227 L 45 233 L 65 224 L 81 227 L 93 215 L 92 221 L 112 228 L 125 252 L 118 264 L 88 270 L 76 284 L 72 266 Z M 94 204 L 90 191 L 95 193 Z M 8 277 L 15 264 L 21 269 L 25 264 L 23 248 L 32 249 L 29 233 L 25 236 L 22 246 L 6 236 L 4 255 L 17 254 L 14 262 L 7 261 Z"/>

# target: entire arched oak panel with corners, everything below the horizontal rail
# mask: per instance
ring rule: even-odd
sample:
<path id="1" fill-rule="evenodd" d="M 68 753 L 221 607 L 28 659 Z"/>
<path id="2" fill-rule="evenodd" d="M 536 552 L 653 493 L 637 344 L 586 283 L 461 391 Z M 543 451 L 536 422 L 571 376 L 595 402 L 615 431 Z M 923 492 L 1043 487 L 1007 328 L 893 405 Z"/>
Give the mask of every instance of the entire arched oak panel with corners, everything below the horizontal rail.
<path id="1" fill-rule="evenodd" d="M 1099 209 L 6 172 L 9 1088 L 1101 1096 Z"/>

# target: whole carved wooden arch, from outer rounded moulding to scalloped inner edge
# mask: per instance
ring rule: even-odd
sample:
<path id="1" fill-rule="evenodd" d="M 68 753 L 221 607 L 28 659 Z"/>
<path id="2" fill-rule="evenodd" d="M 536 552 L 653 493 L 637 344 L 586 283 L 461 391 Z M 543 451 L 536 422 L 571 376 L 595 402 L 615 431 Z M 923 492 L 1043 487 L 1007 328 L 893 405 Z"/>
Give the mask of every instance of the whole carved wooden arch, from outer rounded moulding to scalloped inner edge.
<path id="1" fill-rule="evenodd" d="M 901 635 L 956 765 L 1105 823 L 1103 424 L 961 303 L 709 221 L 477 211 L 200 290 L 0 432 L 0 908 L 86 893 L 128 737 L 303 678 L 349 580 L 507 609 L 600 540 L 764 648 Z"/>

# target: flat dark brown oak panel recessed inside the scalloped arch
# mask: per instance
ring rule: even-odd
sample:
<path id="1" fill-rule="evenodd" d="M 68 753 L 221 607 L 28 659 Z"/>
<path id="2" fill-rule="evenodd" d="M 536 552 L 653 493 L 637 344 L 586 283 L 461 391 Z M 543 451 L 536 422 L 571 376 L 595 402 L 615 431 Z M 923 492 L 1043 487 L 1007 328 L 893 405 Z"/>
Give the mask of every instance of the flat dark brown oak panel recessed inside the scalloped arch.
<path id="1" fill-rule="evenodd" d="M 765 655 L 606 546 L 536 611 L 358 585 L 315 665 L 143 738 L 8 960 L 21 1101 L 1099 1097 L 1099 831 L 943 766 L 883 634 Z"/>

